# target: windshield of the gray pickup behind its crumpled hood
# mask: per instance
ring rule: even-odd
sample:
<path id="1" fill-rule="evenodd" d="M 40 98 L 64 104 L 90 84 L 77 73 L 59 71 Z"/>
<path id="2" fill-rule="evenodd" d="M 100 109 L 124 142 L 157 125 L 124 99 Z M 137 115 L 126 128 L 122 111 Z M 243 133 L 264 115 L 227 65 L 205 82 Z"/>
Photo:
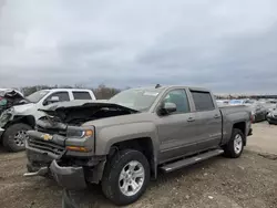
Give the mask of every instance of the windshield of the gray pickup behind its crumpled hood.
<path id="1" fill-rule="evenodd" d="M 150 110 L 160 93 L 161 89 L 131 89 L 114 95 L 110 102 L 144 112 Z"/>

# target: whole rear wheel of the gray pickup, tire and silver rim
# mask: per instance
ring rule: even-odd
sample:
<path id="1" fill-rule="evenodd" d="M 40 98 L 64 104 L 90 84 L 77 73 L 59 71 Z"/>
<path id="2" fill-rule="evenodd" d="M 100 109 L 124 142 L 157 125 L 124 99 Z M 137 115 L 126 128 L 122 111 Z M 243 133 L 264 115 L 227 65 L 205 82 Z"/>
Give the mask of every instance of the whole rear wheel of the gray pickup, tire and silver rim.
<path id="1" fill-rule="evenodd" d="M 244 133 L 238 128 L 234 128 L 228 144 L 224 147 L 225 156 L 230 158 L 239 157 L 244 150 Z"/>

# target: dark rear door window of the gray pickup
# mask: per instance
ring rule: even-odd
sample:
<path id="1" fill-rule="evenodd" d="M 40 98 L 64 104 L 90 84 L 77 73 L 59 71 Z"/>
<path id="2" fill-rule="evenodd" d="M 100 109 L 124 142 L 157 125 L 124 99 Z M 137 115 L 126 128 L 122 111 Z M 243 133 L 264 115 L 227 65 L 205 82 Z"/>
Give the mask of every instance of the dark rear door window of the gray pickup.
<path id="1" fill-rule="evenodd" d="M 215 108 L 211 93 L 191 91 L 196 111 L 212 111 Z"/>

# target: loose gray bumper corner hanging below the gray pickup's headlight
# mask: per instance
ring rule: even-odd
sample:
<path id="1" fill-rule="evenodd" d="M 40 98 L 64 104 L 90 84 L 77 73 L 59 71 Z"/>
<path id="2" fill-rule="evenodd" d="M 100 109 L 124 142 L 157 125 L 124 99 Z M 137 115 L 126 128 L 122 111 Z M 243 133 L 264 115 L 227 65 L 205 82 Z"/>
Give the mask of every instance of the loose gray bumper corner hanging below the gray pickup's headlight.
<path id="1" fill-rule="evenodd" d="M 78 190 L 86 187 L 83 167 L 63 167 L 53 160 L 50 165 L 50 171 L 55 181 L 63 188 Z"/>

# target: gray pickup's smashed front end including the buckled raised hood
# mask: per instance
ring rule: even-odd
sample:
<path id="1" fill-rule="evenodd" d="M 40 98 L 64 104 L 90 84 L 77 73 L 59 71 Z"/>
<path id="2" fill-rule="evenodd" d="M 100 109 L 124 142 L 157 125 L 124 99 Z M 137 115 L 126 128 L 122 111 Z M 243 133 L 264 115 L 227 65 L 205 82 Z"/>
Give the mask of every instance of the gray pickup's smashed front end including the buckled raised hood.
<path id="1" fill-rule="evenodd" d="M 45 116 L 37 122 L 35 131 L 28 132 L 25 176 L 50 175 L 68 189 L 98 184 L 106 162 L 106 155 L 95 155 L 95 126 L 83 124 L 137 113 L 107 102 L 64 102 L 40 111 Z"/>

